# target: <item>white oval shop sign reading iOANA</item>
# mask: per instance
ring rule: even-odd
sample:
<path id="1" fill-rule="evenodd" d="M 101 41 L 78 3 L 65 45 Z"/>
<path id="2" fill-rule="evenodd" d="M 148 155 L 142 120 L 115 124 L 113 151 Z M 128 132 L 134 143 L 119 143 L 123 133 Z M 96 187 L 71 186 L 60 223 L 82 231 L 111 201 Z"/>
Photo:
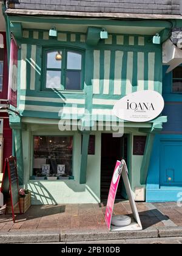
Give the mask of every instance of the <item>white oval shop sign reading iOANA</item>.
<path id="1" fill-rule="evenodd" d="M 157 91 L 137 91 L 128 94 L 113 107 L 113 115 L 125 121 L 147 122 L 163 111 L 164 99 Z"/>

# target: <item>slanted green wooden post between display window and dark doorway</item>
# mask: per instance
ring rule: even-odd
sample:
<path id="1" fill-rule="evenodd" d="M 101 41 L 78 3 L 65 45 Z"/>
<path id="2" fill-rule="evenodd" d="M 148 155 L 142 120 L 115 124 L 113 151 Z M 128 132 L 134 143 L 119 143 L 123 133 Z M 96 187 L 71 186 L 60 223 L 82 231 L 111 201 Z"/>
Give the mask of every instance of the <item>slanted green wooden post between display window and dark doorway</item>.
<path id="1" fill-rule="evenodd" d="M 79 183 L 86 184 L 90 131 L 83 131 L 82 135 L 83 135 L 83 140 L 82 140 L 82 154 L 81 154 L 81 167 L 80 167 Z"/>

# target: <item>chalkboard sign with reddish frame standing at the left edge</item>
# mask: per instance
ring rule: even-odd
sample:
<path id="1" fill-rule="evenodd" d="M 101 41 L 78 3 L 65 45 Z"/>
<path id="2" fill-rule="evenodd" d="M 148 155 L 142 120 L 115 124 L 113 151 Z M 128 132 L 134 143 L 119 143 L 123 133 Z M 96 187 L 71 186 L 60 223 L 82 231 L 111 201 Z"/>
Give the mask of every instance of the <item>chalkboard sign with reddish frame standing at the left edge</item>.
<path id="1" fill-rule="evenodd" d="M 21 213 L 21 208 L 19 204 L 18 175 L 15 157 L 5 159 L 1 193 L 4 195 L 5 204 L 7 203 L 9 197 L 11 199 L 13 222 L 15 222 L 14 208 L 17 205 L 19 205 L 19 212 Z"/>

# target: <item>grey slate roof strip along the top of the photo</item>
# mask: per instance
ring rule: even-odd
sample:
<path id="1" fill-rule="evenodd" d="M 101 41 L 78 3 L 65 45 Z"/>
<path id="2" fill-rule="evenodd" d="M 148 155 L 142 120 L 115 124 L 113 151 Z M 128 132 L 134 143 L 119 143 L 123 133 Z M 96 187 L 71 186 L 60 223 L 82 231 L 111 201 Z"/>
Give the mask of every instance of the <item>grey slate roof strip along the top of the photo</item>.
<path id="1" fill-rule="evenodd" d="M 10 8 L 65 12 L 182 14 L 181 0 L 10 0 Z M 180 12 L 181 10 L 181 12 Z"/>

